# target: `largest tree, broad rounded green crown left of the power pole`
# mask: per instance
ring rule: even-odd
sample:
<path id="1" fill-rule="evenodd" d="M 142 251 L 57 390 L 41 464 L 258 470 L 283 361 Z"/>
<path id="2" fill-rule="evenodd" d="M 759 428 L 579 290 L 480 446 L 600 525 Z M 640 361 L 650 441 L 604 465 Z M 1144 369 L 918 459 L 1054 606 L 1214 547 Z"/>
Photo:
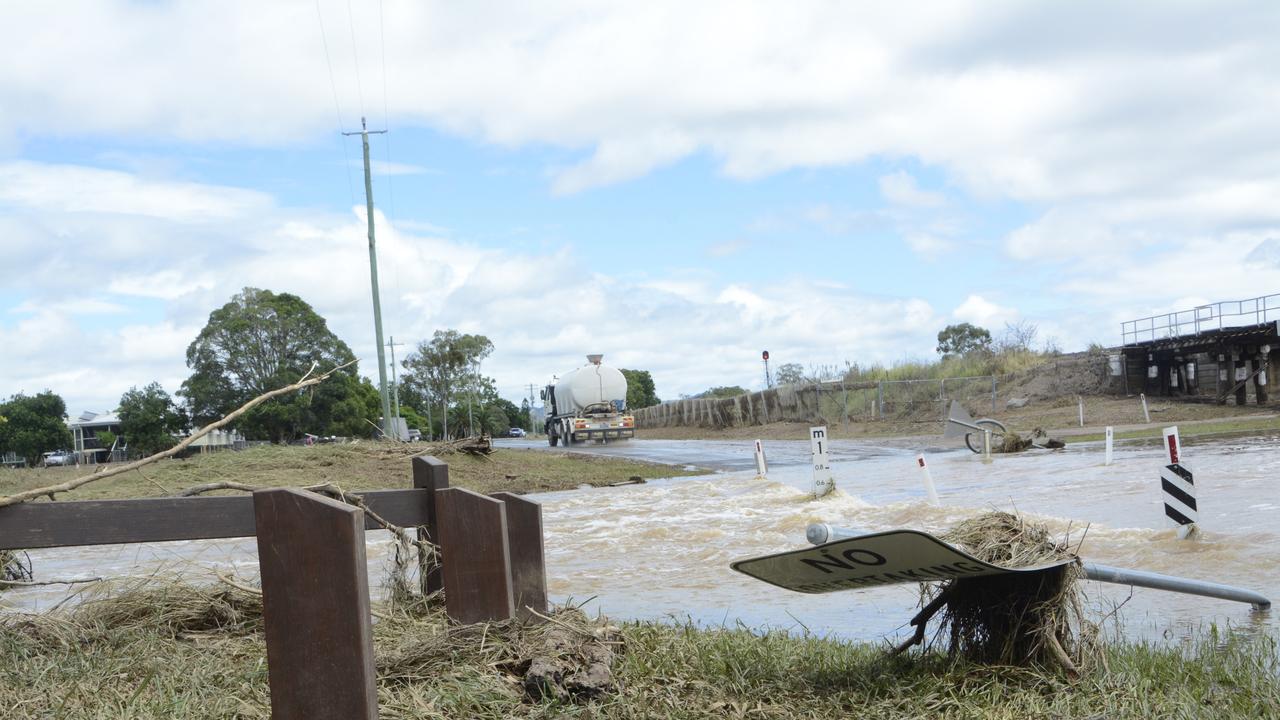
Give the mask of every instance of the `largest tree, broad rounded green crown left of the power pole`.
<path id="1" fill-rule="evenodd" d="M 259 405 L 244 415 L 248 437 L 288 442 L 301 433 L 369 434 L 378 404 L 356 372 L 355 355 L 306 301 L 247 287 L 214 310 L 187 347 L 192 375 L 180 395 L 192 420 L 205 424 L 248 400 L 297 382 L 312 366 L 347 365 L 315 388 Z M 376 397 L 376 392 L 374 393 Z"/>

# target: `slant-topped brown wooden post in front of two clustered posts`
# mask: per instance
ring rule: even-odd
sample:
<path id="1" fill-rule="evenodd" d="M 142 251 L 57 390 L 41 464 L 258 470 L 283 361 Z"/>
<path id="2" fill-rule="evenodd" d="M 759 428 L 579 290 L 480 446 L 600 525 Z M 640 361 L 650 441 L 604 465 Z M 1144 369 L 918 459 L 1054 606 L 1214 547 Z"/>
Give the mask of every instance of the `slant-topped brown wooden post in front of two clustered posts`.
<path id="1" fill-rule="evenodd" d="M 444 607 L 460 623 L 509 620 L 516 612 L 507 543 L 507 507 L 463 488 L 435 492 Z"/>

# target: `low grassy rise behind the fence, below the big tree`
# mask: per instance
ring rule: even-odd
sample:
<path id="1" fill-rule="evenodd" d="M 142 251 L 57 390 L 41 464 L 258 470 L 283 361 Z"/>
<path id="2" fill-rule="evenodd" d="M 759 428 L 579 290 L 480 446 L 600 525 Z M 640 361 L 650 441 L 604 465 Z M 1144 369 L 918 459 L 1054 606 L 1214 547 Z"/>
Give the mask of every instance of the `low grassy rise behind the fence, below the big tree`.
<path id="1" fill-rule="evenodd" d="M 410 461 L 431 451 L 426 443 L 360 442 L 353 445 L 261 446 L 241 452 L 214 452 L 186 460 L 161 460 L 140 470 L 90 483 L 59 500 L 102 500 L 177 495 L 218 482 L 256 487 L 298 487 L 334 483 L 348 491 L 412 487 Z M 607 486 L 632 477 L 644 479 L 694 475 L 682 466 L 618 457 L 497 448 L 490 455 L 442 455 L 449 484 L 481 493 L 543 492 L 579 486 Z M 0 495 L 51 486 L 92 466 L 37 468 L 0 471 Z"/>

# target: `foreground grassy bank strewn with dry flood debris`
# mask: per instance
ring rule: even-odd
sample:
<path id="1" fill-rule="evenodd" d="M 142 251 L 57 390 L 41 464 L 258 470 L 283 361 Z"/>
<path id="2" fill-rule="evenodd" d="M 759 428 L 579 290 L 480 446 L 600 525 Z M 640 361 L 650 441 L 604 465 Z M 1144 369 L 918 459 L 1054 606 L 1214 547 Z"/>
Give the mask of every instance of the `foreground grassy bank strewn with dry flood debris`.
<path id="1" fill-rule="evenodd" d="M 10 717 L 259 719 L 270 715 L 261 602 L 236 588 L 129 588 L 55 615 L 0 619 Z M 374 624 L 380 716 L 509 717 L 1276 717 L 1270 638 L 1212 629 L 1181 647 L 1120 643 L 1069 680 L 938 651 L 558 612 L 608 638 L 614 683 L 593 700 L 534 700 L 521 682 L 562 625 L 457 626 L 435 610 Z"/>

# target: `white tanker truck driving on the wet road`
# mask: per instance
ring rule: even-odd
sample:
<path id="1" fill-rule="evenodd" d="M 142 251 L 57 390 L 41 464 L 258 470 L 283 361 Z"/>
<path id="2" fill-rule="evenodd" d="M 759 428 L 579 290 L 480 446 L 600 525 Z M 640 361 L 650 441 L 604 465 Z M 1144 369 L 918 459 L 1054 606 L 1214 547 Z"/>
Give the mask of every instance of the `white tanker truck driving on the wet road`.
<path id="1" fill-rule="evenodd" d="M 575 442 L 635 437 L 635 418 L 626 413 L 627 378 L 617 368 L 588 355 L 586 365 L 543 388 L 547 406 L 547 442 L 556 447 Z"/>

